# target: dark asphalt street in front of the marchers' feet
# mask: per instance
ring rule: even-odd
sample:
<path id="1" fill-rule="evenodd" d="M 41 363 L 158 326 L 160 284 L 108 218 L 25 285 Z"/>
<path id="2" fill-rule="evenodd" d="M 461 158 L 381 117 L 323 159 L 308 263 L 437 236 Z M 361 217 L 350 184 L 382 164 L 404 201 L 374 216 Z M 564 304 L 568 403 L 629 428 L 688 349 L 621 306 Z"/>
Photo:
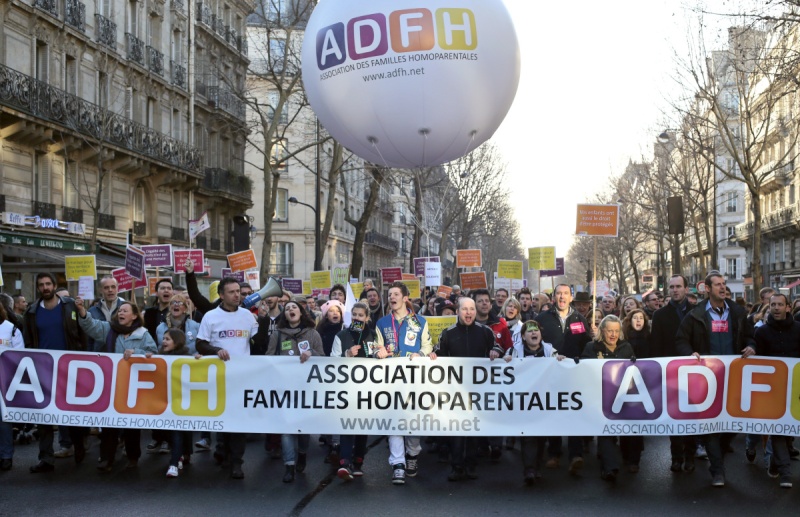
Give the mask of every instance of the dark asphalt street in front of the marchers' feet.
<path id="1" fill-rule="evenodd" d="M 532 488 L 521 482 L 518 449 L 504 451 L 498 464 L 482 462 L 480 478 L 463 483 L 449 483 L 449 467 L 423 452 L 419 476 L 396 487 L 389 481 L 386 442 L 375 437 L 364 477 L 347 484 L 323 464 L 316 436 L 308 469 L 288 485 L 281 482 L 281 461 L 268 459 L 256 436 L 248 441 L 243 481 L 228 478 L 208 452 L 195 454 L 178 479 L 164 476 L 168 460 L 159 455 L 145 455 L 136 470 L 118 461 L 113 473 L 100 475 L 93 465 L 97 443 L 92 438 L 84 465 L 57 460 L 56 471 L 44 475 L 28 473 L 36 445 L 17 447 L 14 469 L 0 473 L 0 515 L 792 515 L 800 503 L 800 482 L 780 489 L 760 467 L 760 454 L 756 464 L 746 464 L 741 437 L 727 457 L 724 489 L 710 487 L 703 461 L 694 474 L 670 473 L 666 438 L 648 438 L 641 472 L 621 473 L 616 485 L 600 480 L 591 454 L 580 478 L 562 465 L 545 470 Z M 793 468 L 800 473 L 800 463 Z"/>

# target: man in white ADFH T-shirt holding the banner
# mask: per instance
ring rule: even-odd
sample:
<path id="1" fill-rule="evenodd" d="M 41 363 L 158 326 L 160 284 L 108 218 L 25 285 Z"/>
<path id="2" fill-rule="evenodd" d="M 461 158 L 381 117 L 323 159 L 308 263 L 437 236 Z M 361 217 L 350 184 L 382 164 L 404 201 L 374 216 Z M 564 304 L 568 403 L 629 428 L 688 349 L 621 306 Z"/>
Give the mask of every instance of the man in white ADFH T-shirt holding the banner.
<path id="1" fill-rule="evenodd" d="M 216 355 L 223 361 L 247 357 L 250 355 L 250 340 L 258 334 L 258 322 L 250 311 L 239 306 L 241 292 L 235 279 L 220 280 L 217 292 L 219 307 L 203 316 L 197 331 L 197 351 L 203 355 Z M 247 435 L 219 434 L 214 459 L 220 464 L 230 461 L 231 477 L 244 478 L 242 457 Z"/>

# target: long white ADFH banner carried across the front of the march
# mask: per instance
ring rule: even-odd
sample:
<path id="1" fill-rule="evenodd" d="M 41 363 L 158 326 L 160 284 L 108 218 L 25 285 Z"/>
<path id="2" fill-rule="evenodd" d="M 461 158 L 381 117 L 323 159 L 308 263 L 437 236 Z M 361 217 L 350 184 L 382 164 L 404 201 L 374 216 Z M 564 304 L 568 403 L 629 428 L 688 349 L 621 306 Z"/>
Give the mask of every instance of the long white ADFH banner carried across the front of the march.
<path id="1" fill-rule="evenodd" d="M 234 433 L 798 436 L 798 364 L 738 356 L 223 362 L 3 349 L 0 409 L 7 422 Z"/>

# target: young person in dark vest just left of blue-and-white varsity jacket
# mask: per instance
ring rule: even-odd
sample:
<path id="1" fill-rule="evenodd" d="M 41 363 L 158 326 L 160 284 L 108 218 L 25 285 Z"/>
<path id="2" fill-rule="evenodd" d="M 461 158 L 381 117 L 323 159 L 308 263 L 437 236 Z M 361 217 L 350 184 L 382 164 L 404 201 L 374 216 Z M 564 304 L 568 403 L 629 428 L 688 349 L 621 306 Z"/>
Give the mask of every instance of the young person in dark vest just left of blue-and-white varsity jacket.
<path id="1" fill-rule="evenodd" d="M 369 307 L 356 303 L 351 311 L 353 322 L 333 340 L 331 357 L 374 357 L 383 338 L 369 326 Z M 339 442 L 339 470 L 337 475 L 344 481 L 353 476 L 363 476 L 364 455 L 367 453 L 367 435 L 342 435 Z"/>

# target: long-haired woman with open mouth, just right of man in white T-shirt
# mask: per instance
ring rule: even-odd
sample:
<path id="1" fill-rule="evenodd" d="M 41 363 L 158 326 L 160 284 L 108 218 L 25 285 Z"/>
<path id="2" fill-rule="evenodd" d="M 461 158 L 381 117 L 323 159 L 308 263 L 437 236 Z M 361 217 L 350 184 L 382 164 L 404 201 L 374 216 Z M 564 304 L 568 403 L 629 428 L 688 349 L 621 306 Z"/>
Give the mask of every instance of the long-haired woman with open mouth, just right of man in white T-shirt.
<path id="1" fill-rule="evenodd" d="M 269 337 L 266 355 L 295 356 L 300 358 L 301 363 L 306 362 L 311 356 L 325 355 L 319 333 L 314 330 L 314 318 L 309 316 L 298 302 L 287 303 L 281 315 L 275 320 L 275 330 Z M 281 436 L 283 463 L 286 466 L 286 472 L 283 474 L 284 483 L 293 482 L 295 473 L 305 470 L 308 442 L 307 434 Z"/>

